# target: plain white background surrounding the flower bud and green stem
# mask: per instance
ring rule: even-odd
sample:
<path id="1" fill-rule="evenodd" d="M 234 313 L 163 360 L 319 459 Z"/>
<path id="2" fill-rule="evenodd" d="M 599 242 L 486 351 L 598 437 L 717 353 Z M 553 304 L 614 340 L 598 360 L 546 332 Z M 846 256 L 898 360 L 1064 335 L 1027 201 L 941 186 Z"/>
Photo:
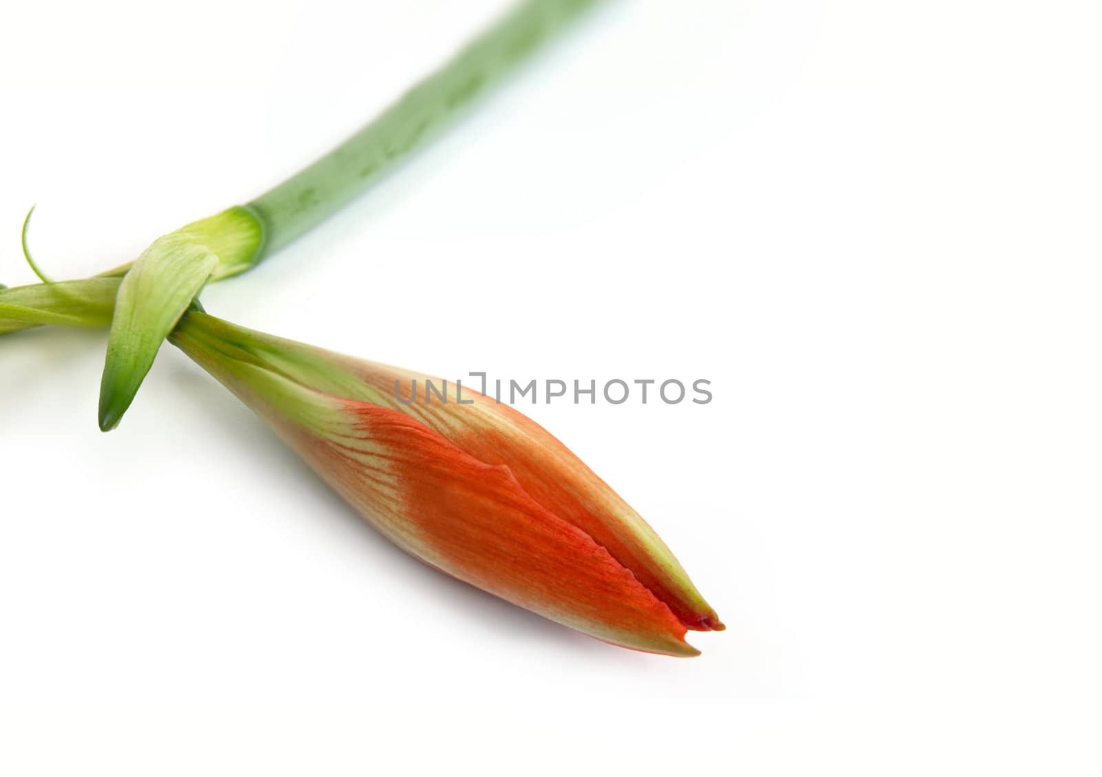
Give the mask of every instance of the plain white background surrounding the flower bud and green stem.
<path id="1" fill-rule="evenodd" d="M 908 8 L 912 6 L 912 8 Z M 504 2 L 22 3 L 0 281 L 82 276 L 355 130 Z M 622 1 L 323 228 L 242 325 L 523 409 L 728 630 L 613 648 L 388 546 L 165 348 L 0 343 L 0 771 L 1096 774 L 1098 11 Z"/>

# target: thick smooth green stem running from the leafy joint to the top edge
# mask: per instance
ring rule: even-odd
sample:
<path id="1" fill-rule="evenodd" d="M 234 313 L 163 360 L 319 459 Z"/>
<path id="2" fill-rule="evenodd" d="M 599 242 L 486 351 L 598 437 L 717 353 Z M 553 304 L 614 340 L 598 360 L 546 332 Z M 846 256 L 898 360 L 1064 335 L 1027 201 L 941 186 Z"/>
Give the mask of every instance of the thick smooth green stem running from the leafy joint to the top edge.
<path id="1" fill-rule="evenodd" d="M 264 227 L 258 262 L 317 226 L 447 127 L 598 0 L 527 0 L 367 127 L 246 206 Z"/>

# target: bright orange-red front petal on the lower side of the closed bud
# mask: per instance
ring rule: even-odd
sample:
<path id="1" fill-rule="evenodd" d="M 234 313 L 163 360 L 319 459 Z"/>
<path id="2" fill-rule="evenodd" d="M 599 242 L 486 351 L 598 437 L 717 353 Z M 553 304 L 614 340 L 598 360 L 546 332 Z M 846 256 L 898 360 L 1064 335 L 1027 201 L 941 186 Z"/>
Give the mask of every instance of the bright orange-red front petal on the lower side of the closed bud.
<path id="1" fill-rule="evenodd" d="M 329 440 L 290 425 L 284 436 L 403 549 L 606 642 L 699 654 L 665 603 L 585 532 L 537 503 L 507 467 L 478 461 L 402 413 L 353 401 L 346 407 L 355 438 Z"/>

